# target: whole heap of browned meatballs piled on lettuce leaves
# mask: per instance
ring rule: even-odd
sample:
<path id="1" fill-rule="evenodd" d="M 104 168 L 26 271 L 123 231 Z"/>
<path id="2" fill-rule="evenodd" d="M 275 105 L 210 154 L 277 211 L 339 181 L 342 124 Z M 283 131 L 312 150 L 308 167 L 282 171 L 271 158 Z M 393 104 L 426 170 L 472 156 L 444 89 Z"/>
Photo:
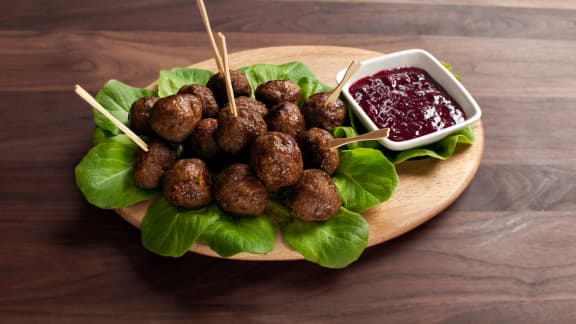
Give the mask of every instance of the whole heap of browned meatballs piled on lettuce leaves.
<path id="1" fill-rule="evenodd" d="M 226 213 L 257 216 L 272 195 L 306 221 L 335 215 L 341 201 L 330 176 L 340 160 L 328 141 L 329 130 L 344 123 L 344 103 L 326 105 L 329 93 L 320 92 L 299 107 L 301 90 L 289 80 L 261 84 L 253 99 L 246 77 L 230 73 L 237 117 L 222 73 L 206 86 L 185 85 L 175 95 L 132 104 L 130 127 L 149 146 L 135 154 L 136 185 L 162 188 L 183 208 L 214 201 Z"/>

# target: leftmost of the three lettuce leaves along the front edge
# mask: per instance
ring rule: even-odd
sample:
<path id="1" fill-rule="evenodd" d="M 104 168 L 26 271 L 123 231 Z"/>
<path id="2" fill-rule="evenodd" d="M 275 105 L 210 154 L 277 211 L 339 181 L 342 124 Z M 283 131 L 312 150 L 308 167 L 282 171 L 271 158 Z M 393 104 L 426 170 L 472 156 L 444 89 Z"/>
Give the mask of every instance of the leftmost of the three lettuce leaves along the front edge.
<path id="1" fill-rule="evenodd" d="M 214 204 L 190 210 L 159 198 L 148 207 L 142 220 L 142 245 L 162 256 L 182 256 L 220 214 Z"/>

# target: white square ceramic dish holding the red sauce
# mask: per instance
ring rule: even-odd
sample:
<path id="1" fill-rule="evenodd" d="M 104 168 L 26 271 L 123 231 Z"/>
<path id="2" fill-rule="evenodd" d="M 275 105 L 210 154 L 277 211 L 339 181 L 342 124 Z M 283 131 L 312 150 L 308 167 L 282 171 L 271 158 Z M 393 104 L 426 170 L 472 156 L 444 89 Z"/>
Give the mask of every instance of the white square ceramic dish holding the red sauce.
<path id="1" fill-rule="evenodd" d="M 358 71 L 346 82 L 342 92 L 344 97 L 351 105 L 354 113 L 364 127 L 369 131 L 376 130 L 378 127 L 374 122 L 368 117 L 364 112 L 362 107 L 354 100 L 350 94 L 350 86 L 352 86 L 356 81 L 374 75 L 382 70 L 388 70 L 399 67 L 416 67 L 425 70 L 428 74 L 440 84 L 444 90 L 462 107 L 462 110 L 466 114 L 466 120 L 452 125 L 450 127 L 420 136 L 413 139 L 405 141 L 392 141 L 390 139 L 381 139 L 379 142 L 386 148 L 394 151 L 403 151 L 427 144 L 431 144 L 441 140 L 442 138 L 450 135 L 451 133 L 462 129 L 470 124 L 476 122 L 480 119 L 481 111 L 480 107 L 472 98 L 468 90 L 456 80 L 456 78 L 450 73 L 438 59 L 436 59 L 432 54 L 421 50 L 421 49 L 411 49 L 401 52 L 395 52 L 391 54 L 386 54 L 380 57 L 376 57 L 367 61 L 362 62 L 362 65 Z M 336 80 L 340 82 L 346 73 L 346 69 L 338 72 L 336 75 Z"/>

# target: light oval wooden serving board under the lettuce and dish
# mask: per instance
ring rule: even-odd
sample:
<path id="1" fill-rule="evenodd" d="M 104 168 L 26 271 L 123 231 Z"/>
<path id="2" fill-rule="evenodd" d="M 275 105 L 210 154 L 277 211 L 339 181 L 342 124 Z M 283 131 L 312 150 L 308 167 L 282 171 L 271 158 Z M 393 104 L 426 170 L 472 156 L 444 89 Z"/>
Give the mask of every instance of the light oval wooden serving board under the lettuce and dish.
<path id="1" fill-rule="evenodd" d="M 230 64 L 239 68 L 256 63 L 282 64 L 303 62 L 325 84 L 336 85 L 336 72 L 352 59 L 363 61 L 382 53 L 363 49 L 334 46 L 286 46 L 259 48 L 230 55 Z M 192 65 L 195 68 L 216 70 L 214 60 Z M 155 86 L 152 84 L 151 87 Z M 462 146 L 447 161 L 425 159 L 408 161 L 397 168 L 400 185 L 392 198 L 362 215 L 370 226 L 368 246 L 373 246 L 402 235 L 438 215 L 450 206 L 466 189 L 480 164 L 484 150 L 482 122 L 473 125 L 476 141 Z M 140 227 L 148 202 L 117 210 L 130 224 Z M 190 251 L 219 257 L 207 245 L 195 243 Z M 230 259 L 242 260 L 297 260 L 302 256 L 290 249 L 279 234 L 274 250 L 266 255 L 239 253 Z"/>

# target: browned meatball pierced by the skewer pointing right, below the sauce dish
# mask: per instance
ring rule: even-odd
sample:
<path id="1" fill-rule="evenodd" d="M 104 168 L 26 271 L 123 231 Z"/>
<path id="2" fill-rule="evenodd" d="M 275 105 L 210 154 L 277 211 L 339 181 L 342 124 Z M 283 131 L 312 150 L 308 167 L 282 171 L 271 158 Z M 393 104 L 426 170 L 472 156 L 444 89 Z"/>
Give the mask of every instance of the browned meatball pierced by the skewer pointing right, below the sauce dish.
<path id="1" fill-rule="evenodd" d="M 312 127 L 304 133 L 300 140 L 300 149 L 307 168 L 322 169 L 329 175 L 338 169 L 340 164 L 338 149 L 328 147 L 328 141 L 333 138 L 330 132 L 322 128 Z"/>

